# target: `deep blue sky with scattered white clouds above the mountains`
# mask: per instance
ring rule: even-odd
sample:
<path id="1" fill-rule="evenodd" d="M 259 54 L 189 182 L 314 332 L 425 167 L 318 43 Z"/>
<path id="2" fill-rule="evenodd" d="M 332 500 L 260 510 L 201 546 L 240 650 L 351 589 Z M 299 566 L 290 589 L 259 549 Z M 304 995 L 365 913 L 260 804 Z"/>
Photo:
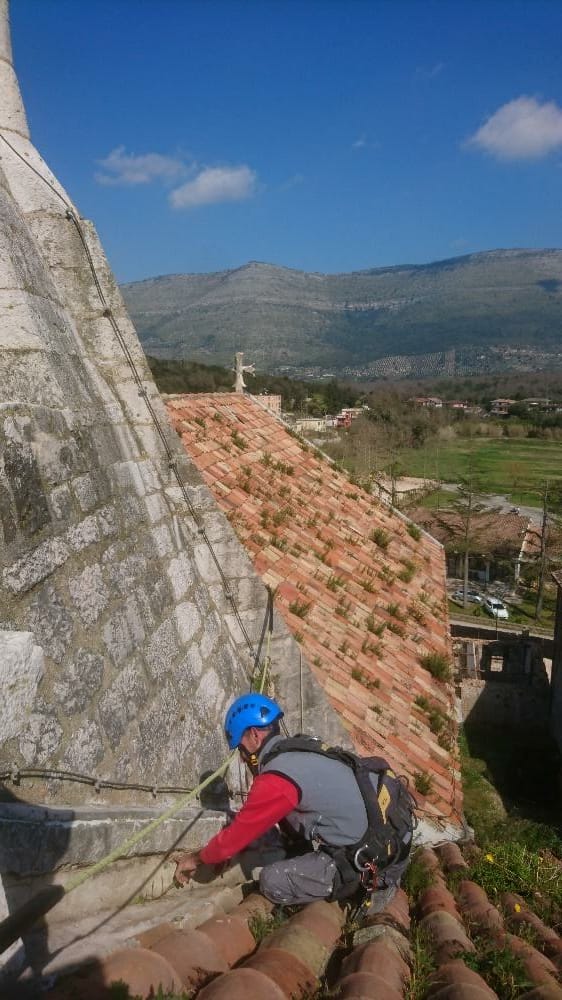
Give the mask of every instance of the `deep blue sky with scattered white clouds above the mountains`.
<path id="1" fill-rule="evenodd" d="M 562 246 L 558 0 L 12 0 L 118 280 Z"/>

